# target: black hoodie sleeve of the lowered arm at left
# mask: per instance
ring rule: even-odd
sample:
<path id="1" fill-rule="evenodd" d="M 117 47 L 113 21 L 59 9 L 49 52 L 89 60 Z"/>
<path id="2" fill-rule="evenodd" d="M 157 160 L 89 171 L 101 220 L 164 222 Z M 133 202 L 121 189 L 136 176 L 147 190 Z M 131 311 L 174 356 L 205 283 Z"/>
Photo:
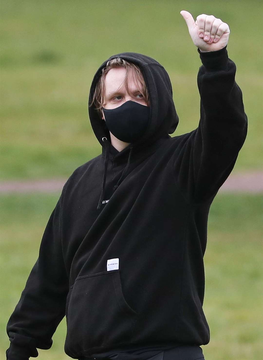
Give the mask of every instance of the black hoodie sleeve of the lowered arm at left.
<path id="1" fill-rule="evenodd" d="M 36 348 L 49 349 L 65 315 L 68 276 L 62 255 L 61 223 L 62 195 L 46 225 L 39 257 L 6 327 L 10 340 L 8 360 L 26 360 L 37 357 Z"/>

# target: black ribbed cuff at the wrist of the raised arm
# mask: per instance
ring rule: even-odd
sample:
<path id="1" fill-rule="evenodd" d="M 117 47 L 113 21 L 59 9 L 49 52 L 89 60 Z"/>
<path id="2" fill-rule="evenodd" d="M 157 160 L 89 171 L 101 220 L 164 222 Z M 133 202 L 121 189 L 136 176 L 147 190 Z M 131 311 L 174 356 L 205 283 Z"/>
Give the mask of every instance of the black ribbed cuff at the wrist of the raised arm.
<path id="1" fill-rule="evenodd" d="M 218 71 L 218 70 L 227 70 L 228 69 L 228 54 L 227 54 L 227 45 L 217 51 L 209 51 L 207 53 L 202 53 L 199 48 L 201 62 L 203 64 L 204 71 Z"/>

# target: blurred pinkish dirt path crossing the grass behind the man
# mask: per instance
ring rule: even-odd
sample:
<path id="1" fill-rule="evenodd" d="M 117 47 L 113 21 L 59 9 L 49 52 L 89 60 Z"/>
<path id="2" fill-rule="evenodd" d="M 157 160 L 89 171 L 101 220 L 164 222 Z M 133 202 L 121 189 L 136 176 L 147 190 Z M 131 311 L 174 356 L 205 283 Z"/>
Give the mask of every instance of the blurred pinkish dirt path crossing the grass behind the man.
<path id="1" fill-rule="evenodd" d="M 67 179 L 0 181 L 0 193 L 61 192 Z M 263 171 L 230 175 L 219 192 L 263 193 Z"/>

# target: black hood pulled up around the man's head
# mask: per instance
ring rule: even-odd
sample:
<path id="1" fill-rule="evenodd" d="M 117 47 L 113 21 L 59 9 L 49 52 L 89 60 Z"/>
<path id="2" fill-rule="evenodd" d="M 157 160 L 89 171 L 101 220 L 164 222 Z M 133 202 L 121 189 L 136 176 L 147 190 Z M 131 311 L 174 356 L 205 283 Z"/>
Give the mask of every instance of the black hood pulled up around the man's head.
<path id="1" fill-rule="evenodd" d="M 156 60 L 146 55 L 137 53 L 120 53 L 112 55 L 109 59 L 104 61 L 95 73 L 90 87 L 89 118 L 92 129 L 99 143 L 102 147 L 105 147 L 105 142 L 103 142 L 102 138 L 106 137 L 110 140 L 110 134 L 104 120 L 99 117 L 97 110 L 95 110 L 94 104 L 92 106 L 90 106 L 90 104 L 92 103 L 97 81 L 102 74 L 102 69 L 106 67 L 109 60 L 118 57 L 136 64 L 141 69 L 150 98 L 150 119 L 147 130 L 138 141 L 131 144 L 132 147 L 135 148 L 137 145 L 142 143 L 149 144 L 162 136 L 172 134 L 178 125 L 179 118 L 173 102 L 171 81 L 165 68 Z M 128 150 L 131 145 L 125 149 Z M 110 146 L 112 147 L 112 145 Z M 124 150 L 122 150 L 122 152 L 124 152 Z"/>

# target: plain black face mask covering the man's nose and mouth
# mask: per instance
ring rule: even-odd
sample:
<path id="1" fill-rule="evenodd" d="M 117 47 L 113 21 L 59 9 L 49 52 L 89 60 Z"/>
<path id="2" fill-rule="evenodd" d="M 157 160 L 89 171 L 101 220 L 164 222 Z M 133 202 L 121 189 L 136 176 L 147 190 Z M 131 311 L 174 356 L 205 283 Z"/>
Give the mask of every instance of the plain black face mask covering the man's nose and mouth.
<path id="1" fill-rule="evenodd" d="M 150 108 L 135 101 L 126 101 L 115 109 L 103 109 L 108 130 L 119 140 L 132 143 L 147 129 Z"/>

